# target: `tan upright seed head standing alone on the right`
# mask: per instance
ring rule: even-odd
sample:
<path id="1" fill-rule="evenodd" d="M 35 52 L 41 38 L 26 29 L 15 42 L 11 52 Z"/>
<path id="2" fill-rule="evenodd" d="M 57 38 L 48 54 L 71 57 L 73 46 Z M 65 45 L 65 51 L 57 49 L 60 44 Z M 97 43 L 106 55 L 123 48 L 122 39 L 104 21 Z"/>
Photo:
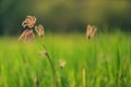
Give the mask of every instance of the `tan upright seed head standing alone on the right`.
<path id="1" fill-rule="evenodd" d="M 94 25 L 87 25 L 86 27 L 86 38 L 91 39 L 96 32 L 96 27 Z"/>

